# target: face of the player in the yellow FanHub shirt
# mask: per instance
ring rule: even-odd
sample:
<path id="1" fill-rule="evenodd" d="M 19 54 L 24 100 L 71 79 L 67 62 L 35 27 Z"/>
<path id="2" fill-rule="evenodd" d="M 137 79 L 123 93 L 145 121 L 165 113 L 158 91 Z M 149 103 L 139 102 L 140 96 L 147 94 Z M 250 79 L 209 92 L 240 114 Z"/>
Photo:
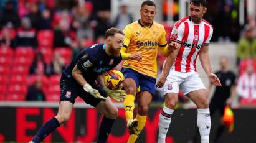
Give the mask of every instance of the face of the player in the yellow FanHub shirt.
<path id="1" fill-rule="evenodd" d="M 141 15 L 141 23 L 143 25 L 151 25 L 154 21 L 154 16 L 156 16 L 156 7 L 154 6 L 148 6 L 144 5 L 140 9 L 140 15 Z"/>

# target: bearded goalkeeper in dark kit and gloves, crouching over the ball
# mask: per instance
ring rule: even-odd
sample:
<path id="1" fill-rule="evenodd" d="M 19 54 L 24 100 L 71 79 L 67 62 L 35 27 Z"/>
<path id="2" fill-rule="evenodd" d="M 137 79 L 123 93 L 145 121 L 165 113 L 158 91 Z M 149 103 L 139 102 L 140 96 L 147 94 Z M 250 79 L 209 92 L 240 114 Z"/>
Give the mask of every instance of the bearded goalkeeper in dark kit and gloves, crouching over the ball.
<path id="1" fill-rule="evenodd" d="M 42 141 L 57 127 L 67 122 L 77 96 L 104 114 L 97 142 L 107 141 L 118 116 L 118 109 L 110 98 L 123 101 L 126 93 L 124 90 L 109 90 L 104 85 L 103 76 L 106 71 L 121 62 L 120 50 L 123 40 L 124 34 L 120 29 L 110 28 L 105 33 L 105 44 L 95 44 L 78 53 L 60 78 L 60 104 L 57 116 L 47 121 L 31 142 Z"/>

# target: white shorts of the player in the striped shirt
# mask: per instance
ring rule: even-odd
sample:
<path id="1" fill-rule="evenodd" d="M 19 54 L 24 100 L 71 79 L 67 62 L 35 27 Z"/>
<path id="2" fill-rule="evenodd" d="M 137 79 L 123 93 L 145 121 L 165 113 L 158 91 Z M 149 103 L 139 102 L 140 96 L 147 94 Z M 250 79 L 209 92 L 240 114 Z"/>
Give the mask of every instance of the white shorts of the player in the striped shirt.
<path id="1" fill-rule="evenodd" d="M 204 83 L 196 72 L 181 73 L 171 70 L 164 83 L 164 95 L 179 93 L 179 87 L 184 95 L 200 89 L 206 89 Z"/>

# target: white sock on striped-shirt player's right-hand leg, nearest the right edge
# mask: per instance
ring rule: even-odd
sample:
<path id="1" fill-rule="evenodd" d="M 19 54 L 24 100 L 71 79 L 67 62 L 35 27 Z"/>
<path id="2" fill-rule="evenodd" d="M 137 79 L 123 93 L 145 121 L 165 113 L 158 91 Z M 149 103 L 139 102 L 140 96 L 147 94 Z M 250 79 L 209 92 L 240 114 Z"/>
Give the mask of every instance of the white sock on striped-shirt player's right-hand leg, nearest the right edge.
<path id="1" fill-rule="evenodd" d="M 210 109 L 197 109 L 197 126 L 199 128 L 201 143 L 209 143 L 211 130 Z"/>

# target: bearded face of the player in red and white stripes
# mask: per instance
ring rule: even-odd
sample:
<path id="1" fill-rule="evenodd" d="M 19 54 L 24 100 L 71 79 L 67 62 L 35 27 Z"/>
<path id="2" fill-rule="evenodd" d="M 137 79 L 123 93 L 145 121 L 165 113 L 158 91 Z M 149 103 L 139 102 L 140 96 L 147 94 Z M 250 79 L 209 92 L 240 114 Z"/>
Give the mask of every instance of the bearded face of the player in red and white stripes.
<path id="1" fill-rule="evenodd" d="M 204 13 L 206 13 L 206 11 L 207 11 L 207 8 L 202 6 L 201 4 L 200 6 L 195 6 L 194 4 L 189 5 L 190 17 L 192 21 L 196 24 L 201 23 L 202 16 L 204 15 Z"/>

